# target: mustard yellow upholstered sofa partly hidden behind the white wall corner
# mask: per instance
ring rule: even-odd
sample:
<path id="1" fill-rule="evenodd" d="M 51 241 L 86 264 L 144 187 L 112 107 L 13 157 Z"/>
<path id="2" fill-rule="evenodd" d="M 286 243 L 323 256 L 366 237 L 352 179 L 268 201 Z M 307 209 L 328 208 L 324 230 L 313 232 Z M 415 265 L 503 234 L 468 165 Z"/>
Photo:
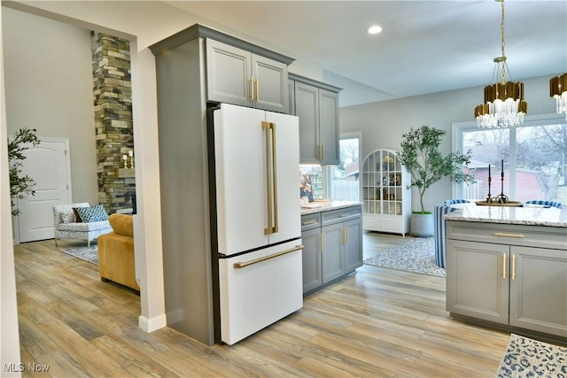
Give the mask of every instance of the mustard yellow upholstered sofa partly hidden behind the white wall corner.
<path id="1" fill-rule="evenodd" d="M 114 213 L 108 218 L 112 232 L 98 236 L 98 273 L 103 282 L 112 281 L 135 289 L 134 217 Z"/>

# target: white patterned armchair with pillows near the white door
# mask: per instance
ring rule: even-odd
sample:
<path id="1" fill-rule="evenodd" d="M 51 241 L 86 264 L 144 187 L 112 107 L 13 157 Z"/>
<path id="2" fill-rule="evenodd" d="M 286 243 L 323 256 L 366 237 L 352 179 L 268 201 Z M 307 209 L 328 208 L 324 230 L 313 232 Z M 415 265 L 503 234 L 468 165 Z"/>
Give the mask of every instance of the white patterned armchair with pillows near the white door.
<path id="1" fill-rule="evenodd" d="M 88 202 L 59 204 L 53 206 L 52 210 L 56 247 L 59 239 L 83 240 L 90 247 L 90 241 L 97 239 L 98 235 L 113 231 L 108 222 L 108 214 L 100 204 L 97 206 L 90 206 Z"/>

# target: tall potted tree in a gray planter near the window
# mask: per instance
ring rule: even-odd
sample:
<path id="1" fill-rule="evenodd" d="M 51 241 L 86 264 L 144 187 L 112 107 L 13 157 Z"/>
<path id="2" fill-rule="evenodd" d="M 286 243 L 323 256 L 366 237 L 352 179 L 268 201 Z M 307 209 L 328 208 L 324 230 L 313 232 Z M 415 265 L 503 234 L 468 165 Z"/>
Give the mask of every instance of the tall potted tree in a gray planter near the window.
<path id="1" fill-rule="evenodd" d="M 472 153 L 451 152 L 443 155 L 439 150 L 445 131 L 423 125 L 402 135 L 401 150 L 397 154 L 400 163 L 408 169 L 411 176 L 410 187 L 419 191 L 420 212 L 412 212 L 410 233 L 415 236 L 433 235 L 433 214 L 423 206 L 423 197 L 432 184 L 443 177 L 450 177 L 455 182 L 474 182 L 471 174 L 462 171 L 462 166 L 470 163 Z"/>

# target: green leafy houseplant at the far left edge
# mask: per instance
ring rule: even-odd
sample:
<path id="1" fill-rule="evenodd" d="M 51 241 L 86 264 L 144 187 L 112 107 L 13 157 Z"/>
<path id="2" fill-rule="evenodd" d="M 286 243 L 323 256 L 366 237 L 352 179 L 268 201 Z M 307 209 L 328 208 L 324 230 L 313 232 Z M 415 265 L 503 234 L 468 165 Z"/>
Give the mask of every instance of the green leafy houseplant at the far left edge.
<path id="1" fill-rule="evenodd" d="M 19 209 L 15 207 L 13 198 L 19 195 L 35 195 L 35 181 L 27 174 L 21 174 L 23 161 L 26 159 L 24 154 L 30 146 L 37 146 L 40 143 L 36 135 L 35 128 L 20 128 L 8 141 L 8 161 L 10 162 L 10 197 L 12 197 L 12 215 L 18 215 Z"/>

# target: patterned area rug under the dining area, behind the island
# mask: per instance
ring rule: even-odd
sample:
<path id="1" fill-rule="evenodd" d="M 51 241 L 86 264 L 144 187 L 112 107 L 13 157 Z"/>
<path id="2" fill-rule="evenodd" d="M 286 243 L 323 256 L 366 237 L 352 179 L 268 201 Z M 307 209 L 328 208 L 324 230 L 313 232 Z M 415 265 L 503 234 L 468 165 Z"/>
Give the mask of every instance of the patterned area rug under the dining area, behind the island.
<path id="1" fill-rule="evenodd" d="M 438 277 L 446 276 L 445 269 L 435 265 L 433 237 L 412 238 L 391 250 L 365 259 L 364 264 Z"/>

